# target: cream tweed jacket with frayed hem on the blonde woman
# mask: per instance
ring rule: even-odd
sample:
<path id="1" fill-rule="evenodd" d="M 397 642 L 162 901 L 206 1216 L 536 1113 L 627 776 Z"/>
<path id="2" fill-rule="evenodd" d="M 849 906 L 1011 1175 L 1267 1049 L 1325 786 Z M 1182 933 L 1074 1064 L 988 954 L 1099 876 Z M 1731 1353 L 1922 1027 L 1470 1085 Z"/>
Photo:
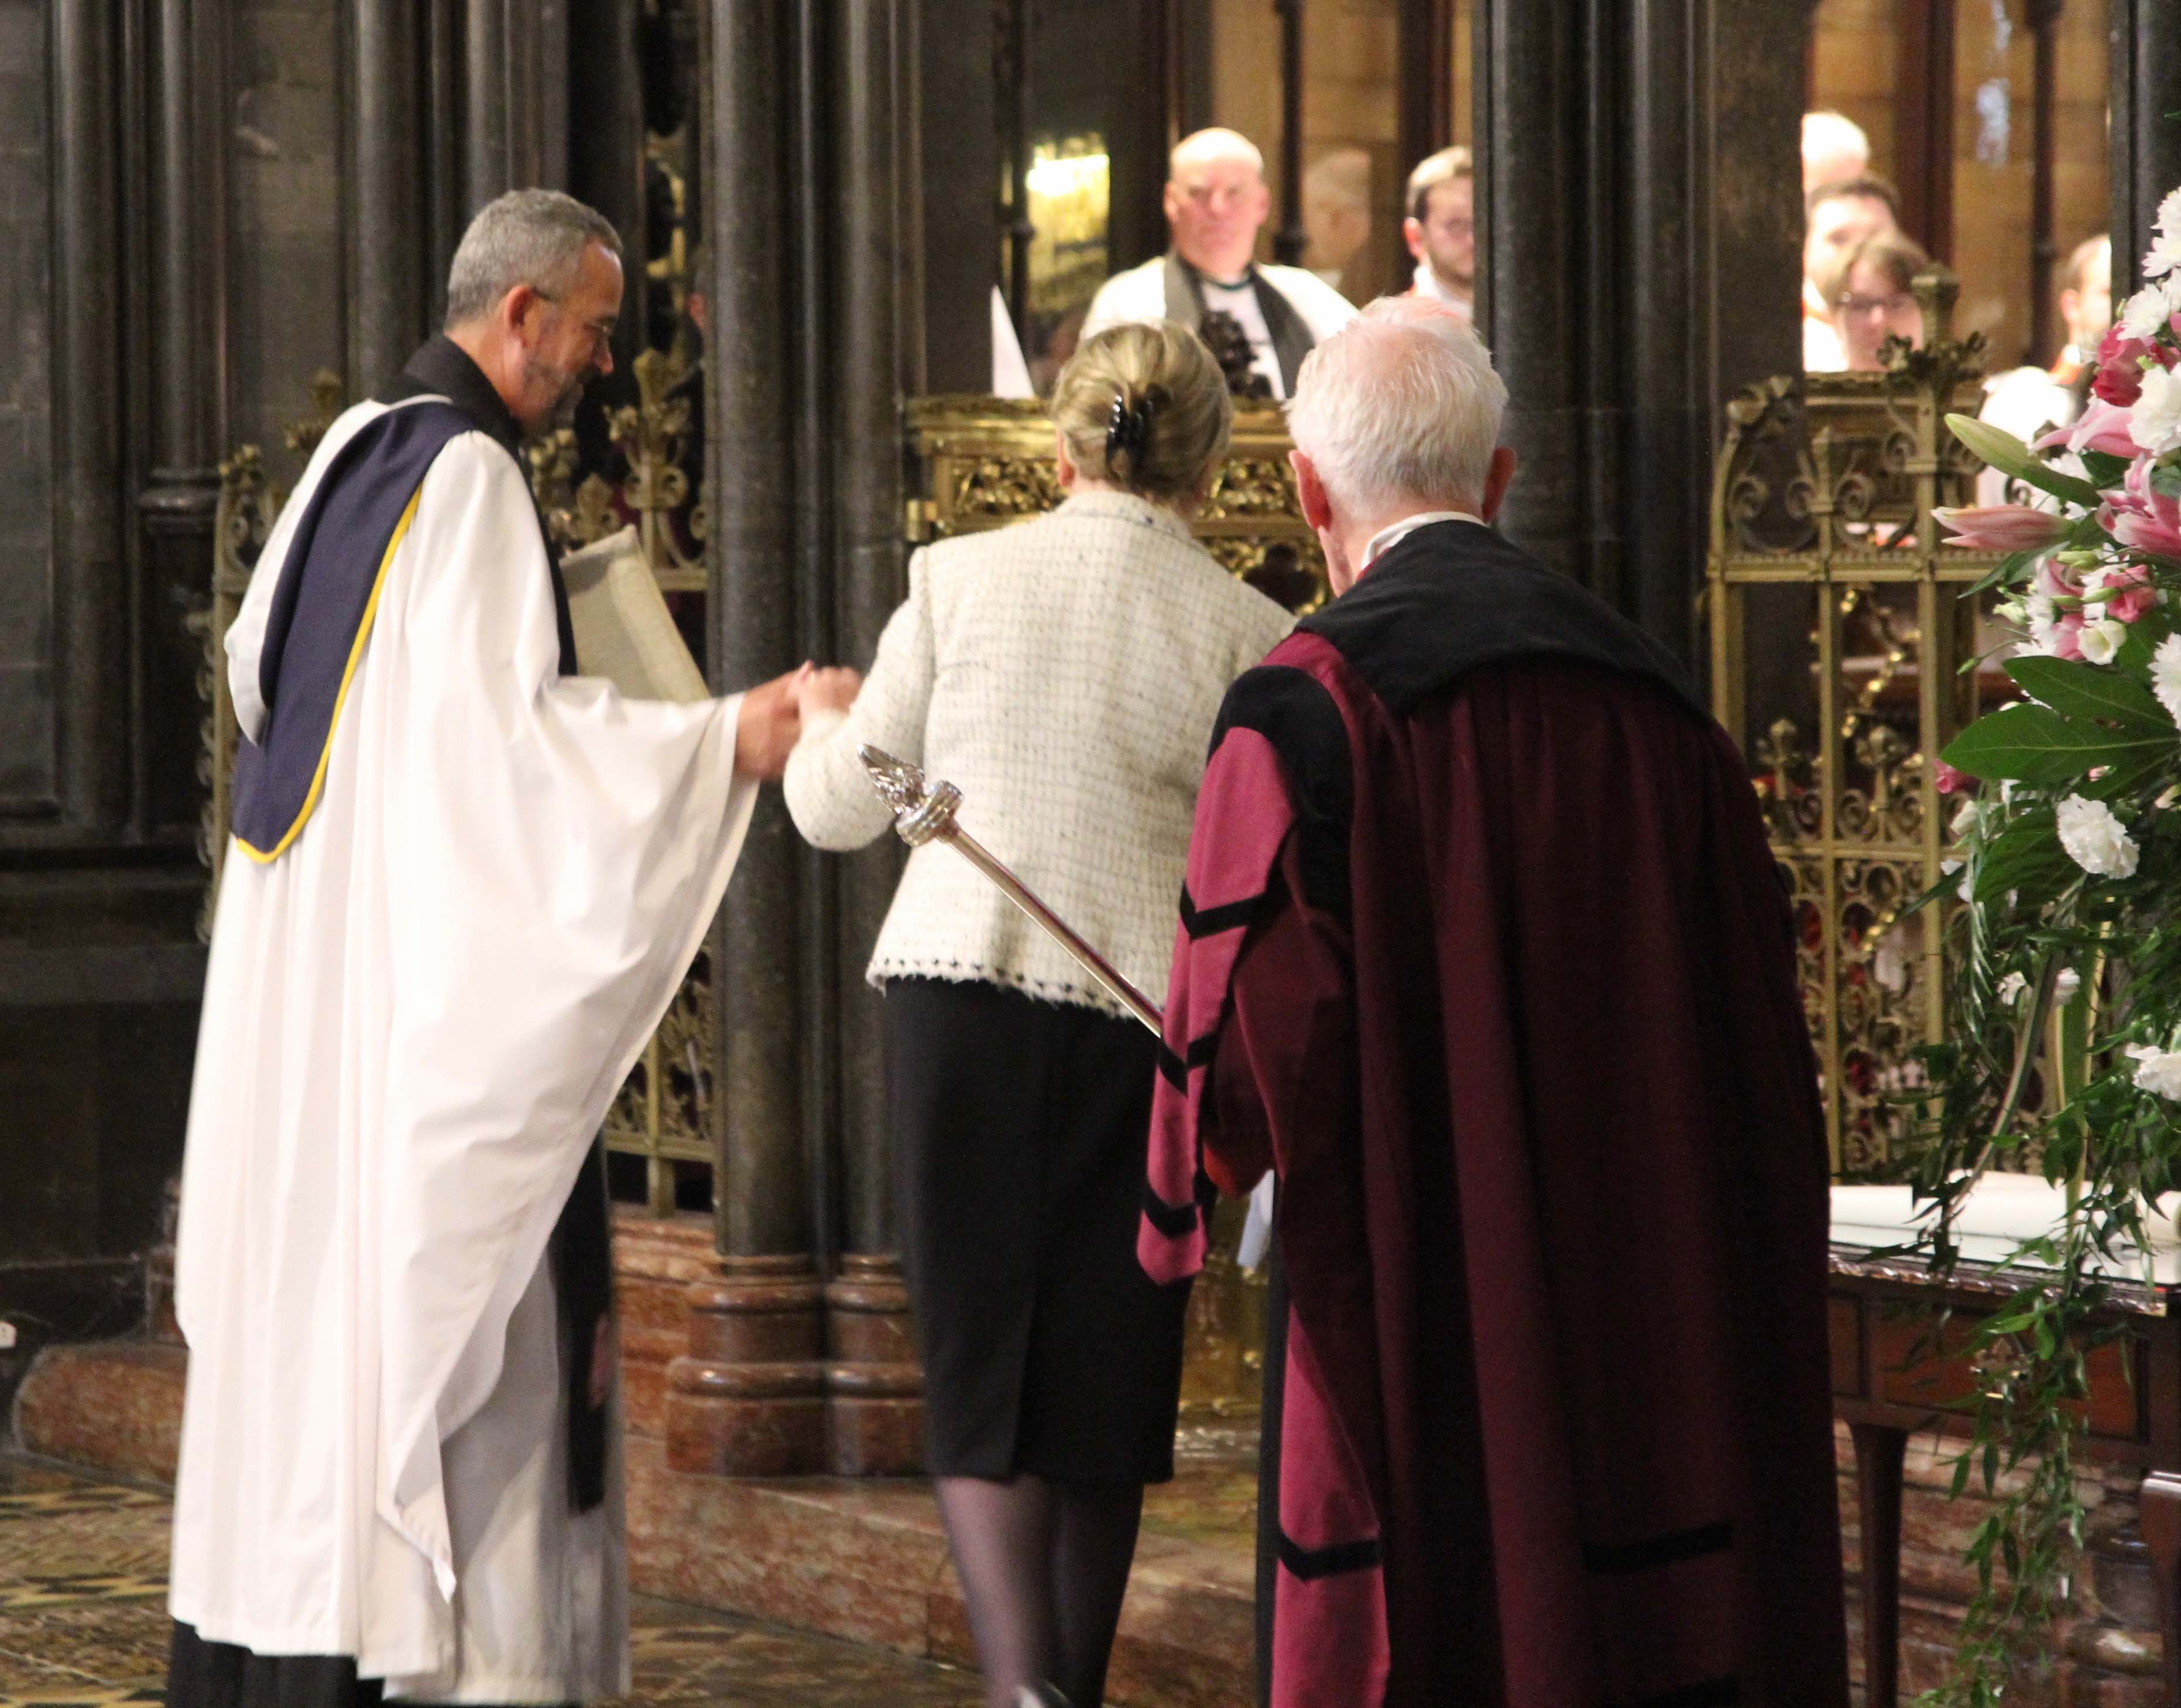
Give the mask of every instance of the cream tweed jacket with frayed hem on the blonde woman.
<path id="1" fill-rule="evenodd" d="M 1162 1003 L 1219 700 L 1291 626 L 1180 517 L 1125 493 L 927 545 L 855 707 L 805 726 L 787 811 L 820 849 L 888 833 L 859 742 L 944 777 L 962 829 Z M 940 844 L 909 853 L 868 977 L 986 979 L 1125 1014 Z"/>

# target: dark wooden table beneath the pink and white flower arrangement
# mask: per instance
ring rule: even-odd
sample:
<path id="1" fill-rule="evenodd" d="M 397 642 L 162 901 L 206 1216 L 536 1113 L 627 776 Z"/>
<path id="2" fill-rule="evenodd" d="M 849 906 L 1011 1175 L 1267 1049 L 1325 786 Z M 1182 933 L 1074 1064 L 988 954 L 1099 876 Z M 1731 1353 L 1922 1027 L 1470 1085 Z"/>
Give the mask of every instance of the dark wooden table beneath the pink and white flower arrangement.
<path id="1" fill-rule="evenodd" d="M 1961 1357 L 1911 1366 L 1941 1309 L 1989 1315 L 2022 1287 L 2020 1274 L 1963 1263 L 1937 1283 L 1915 1261 L 1832 1248 L 1832 1414 L 1856 1442 L 1863 1516 L 1865 1708 L 1900 1699 L 1902 1464 L 1908 1435 L 1939 1420 L 1935 1407 L 1972 1392 Z M 2166 1699 L 2181 1708 L 2181 1287 L 2124 1287 L 2109 1320 L 2120 1339 L 2089 1355 L 2089 1459 L 2144 1472 L 2142 1536 L 2159 1588 Z M 1948 1342 L 1963 1339 L 1959 1328 Z M 1948 1424 L 1948 1429 L 1956 1429 Z"/>

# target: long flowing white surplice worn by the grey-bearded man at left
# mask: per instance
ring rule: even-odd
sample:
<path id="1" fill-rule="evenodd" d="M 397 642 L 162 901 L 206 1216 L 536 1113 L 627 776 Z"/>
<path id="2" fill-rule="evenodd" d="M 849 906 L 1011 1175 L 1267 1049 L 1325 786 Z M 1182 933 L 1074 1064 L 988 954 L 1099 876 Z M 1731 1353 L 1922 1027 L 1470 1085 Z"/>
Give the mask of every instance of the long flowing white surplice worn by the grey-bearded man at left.
<path id="1" fill-rule="evenodd" d="M 229 633 L 244 735 L 292 526 L 379 410 Z M 737 707 L 563 678 L 521 471 L 438 454 L 314 816 L 220 879 L 177 1250 L 170 1608 L 203 1638 L 443 1701 L 628 1688 L 619 1431 L 571 1514 L 545 1246 L 733 870 Z"/>

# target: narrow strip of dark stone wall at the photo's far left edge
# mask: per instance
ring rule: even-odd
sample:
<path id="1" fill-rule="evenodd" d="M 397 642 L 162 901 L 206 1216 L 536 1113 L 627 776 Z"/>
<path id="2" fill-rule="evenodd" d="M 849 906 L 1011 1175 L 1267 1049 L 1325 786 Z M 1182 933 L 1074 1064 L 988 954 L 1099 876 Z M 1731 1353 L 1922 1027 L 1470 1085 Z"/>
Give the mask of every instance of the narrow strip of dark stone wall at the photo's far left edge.
<path id="1" fill-rule="evenodd" d="M 46 7 L 0 0 L 0 818 L 52 809 Z"/>

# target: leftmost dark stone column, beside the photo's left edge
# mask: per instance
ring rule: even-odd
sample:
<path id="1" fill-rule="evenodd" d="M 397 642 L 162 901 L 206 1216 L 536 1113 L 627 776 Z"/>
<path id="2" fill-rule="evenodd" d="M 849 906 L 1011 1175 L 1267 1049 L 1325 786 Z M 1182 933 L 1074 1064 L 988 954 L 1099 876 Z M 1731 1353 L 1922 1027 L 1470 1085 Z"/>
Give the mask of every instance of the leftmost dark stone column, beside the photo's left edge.
<path id="1" fill-rule="evenodd" d="M 63 822 L 100 831 L 129 814 L 118 46 L 107 0 L 57 0 L 48 59 L 57 781 Z"/>

